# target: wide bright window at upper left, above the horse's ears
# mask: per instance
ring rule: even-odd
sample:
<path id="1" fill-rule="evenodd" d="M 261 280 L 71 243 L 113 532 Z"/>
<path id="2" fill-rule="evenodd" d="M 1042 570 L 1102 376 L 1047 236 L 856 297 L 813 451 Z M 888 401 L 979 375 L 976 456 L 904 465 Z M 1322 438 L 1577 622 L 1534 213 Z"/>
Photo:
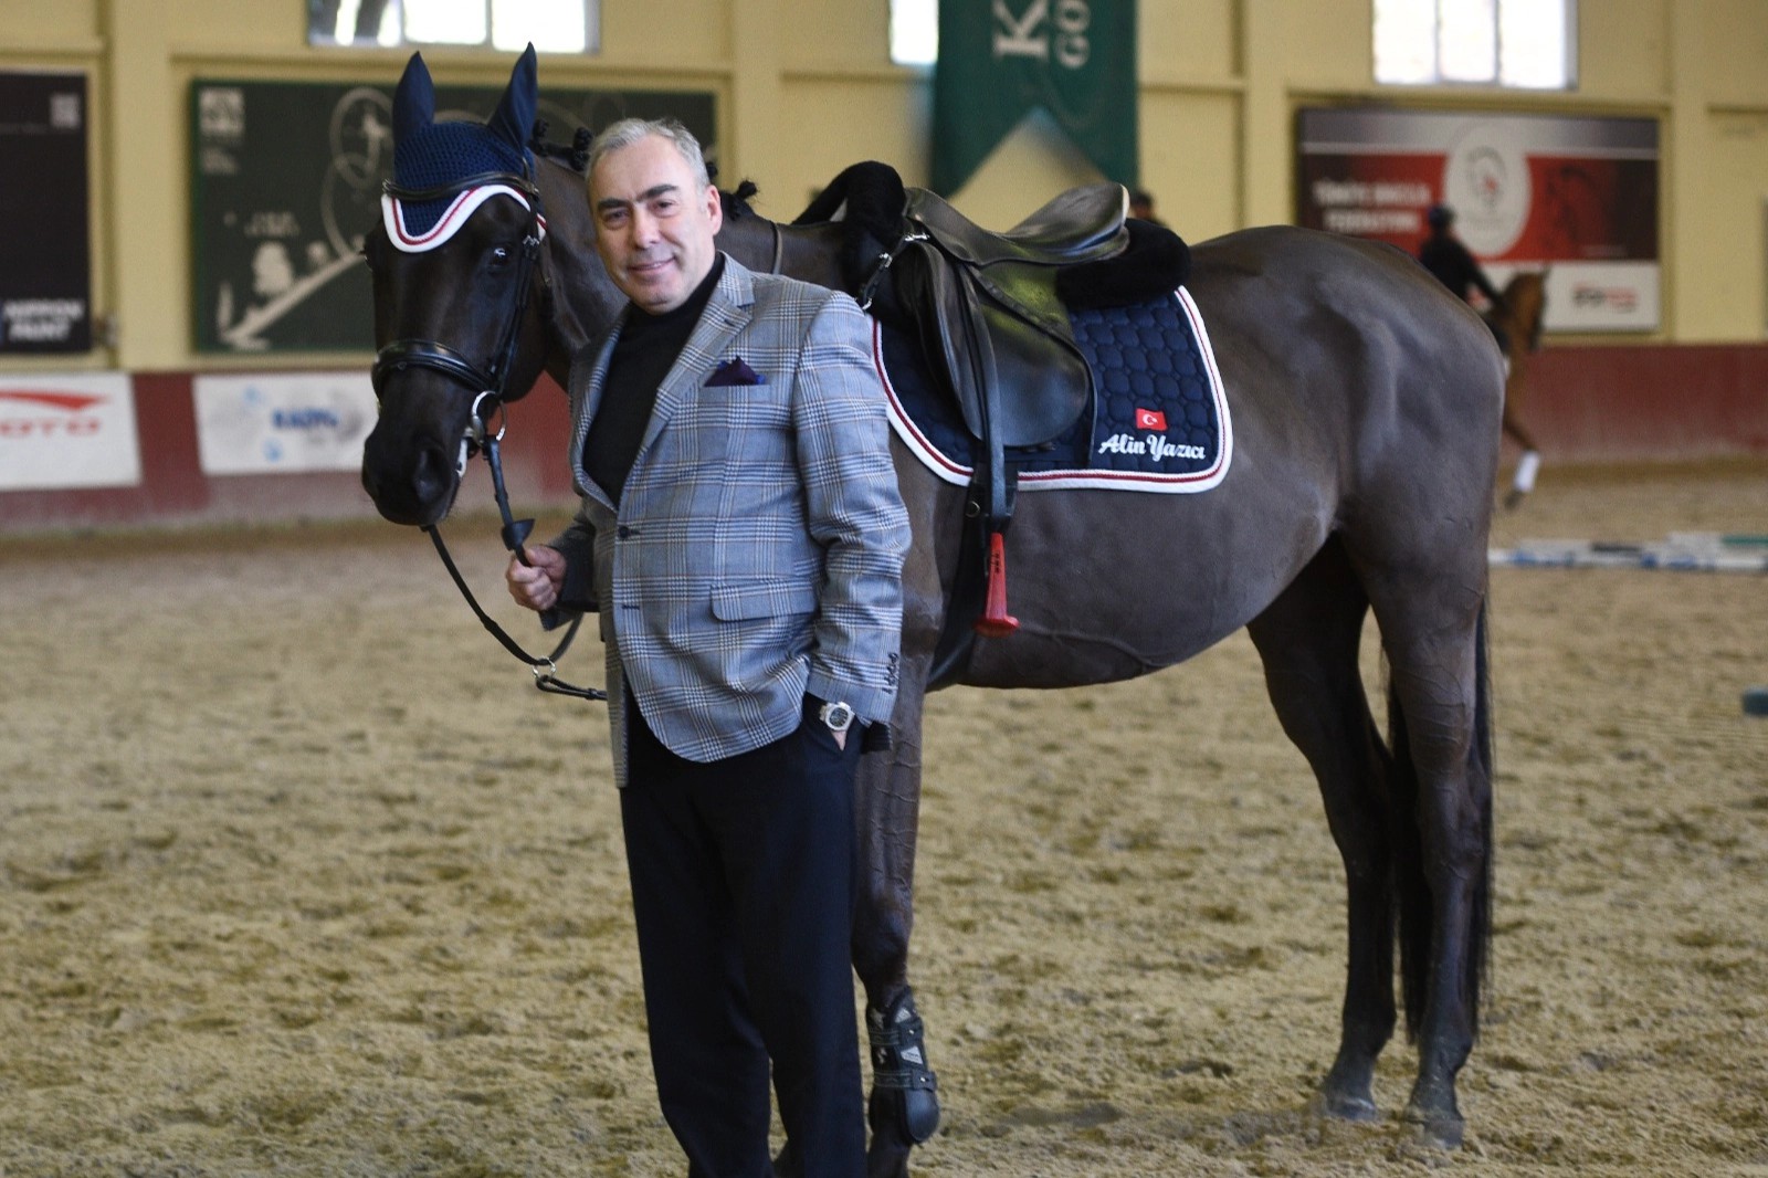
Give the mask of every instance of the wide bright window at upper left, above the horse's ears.
<path id="1" fill-rule="evenodd" d="M 598 0 L 308 0 L 309 44 L 594 53 Z"/>

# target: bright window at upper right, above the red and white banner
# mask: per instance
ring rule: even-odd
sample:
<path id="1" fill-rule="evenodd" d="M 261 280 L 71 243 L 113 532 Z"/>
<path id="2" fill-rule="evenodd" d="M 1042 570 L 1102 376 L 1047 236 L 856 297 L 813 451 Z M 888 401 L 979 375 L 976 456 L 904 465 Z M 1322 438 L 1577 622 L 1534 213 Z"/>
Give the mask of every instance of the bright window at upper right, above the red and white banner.
<path id="1" fill-rule="evenodd" d="M 1376 0 L 1376 81 L 1566 90 L 1577 0 Z"/>

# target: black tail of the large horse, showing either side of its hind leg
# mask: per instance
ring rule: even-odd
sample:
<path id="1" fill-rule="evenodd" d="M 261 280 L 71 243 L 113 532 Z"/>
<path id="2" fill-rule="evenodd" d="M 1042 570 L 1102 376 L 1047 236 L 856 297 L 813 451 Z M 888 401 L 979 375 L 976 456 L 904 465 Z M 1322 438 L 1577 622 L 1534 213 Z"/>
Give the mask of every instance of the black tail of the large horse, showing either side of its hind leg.
<path id="1" fill-rule="evenodd" d="M 1480 1033 L 1480 996 L 1492 948 L 1492 787 L 1496 752 L 1492 741 L 1492 677 L 1489 660 L 1487 605 L 1475 624 L 1473 741 L 1467 750 L 1467 789 L 1473 792 L 1480 844 L 1478 877 L 1473 881 L 1467 945 L 1462 957 L 1460 998 L 1475 1036 Z M 1406 713 L 1391 683 L 1388 686 L 1388 743 L 1393 752 L 1390 791 L 1393 883 L 1398 907 L 1400 987 L 1406 1001 L 1406 1035 L 1416 1038 L 1425 1015 L 1430 983 L 1430 939 L 1436 932 L 1430 881 L 1425 876 L 1423 840 L 1418 824 L 1418 766 L 1413 762 Z"/>

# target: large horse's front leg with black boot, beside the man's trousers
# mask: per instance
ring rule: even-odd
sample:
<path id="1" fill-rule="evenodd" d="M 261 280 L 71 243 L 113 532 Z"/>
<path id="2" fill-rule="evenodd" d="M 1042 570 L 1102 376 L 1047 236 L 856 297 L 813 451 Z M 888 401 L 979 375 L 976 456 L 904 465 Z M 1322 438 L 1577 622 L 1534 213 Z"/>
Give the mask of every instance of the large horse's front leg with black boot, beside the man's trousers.
<path id="1" fill-rule="evenodd" d="M 868 753 L 859 768 L 856 817 L 861 877 L 854 913 L 854 969 L 866 987 L 872 1045 L 868 1178 L 907 1178 L 909 1151 L 939 1127 L 934 1070 L 909 989 L 921 801 L 919 685 L 925 677 L 925 665 L 905 669 L 891 720 L 891 748 Z"/>

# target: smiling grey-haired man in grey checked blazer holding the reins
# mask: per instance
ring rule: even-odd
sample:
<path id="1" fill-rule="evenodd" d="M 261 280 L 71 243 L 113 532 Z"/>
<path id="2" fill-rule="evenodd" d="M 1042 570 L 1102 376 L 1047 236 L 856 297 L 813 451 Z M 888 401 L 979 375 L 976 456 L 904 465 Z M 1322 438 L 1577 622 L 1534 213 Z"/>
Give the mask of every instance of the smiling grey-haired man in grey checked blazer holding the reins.
<path id="1" fill-rule="evenodd" d="M 865 1173 L 854 769 L 896 686 L 909 518 L 870 322 L 753 274 L 700 145 L 619 122 L 596 251 L 631 304 L 571 370 L 573 525 L 509 591 L 599 608 L 658 1098 L 693 1178 Z M 875 741 L 873 741 L 875 743 Z"/>

